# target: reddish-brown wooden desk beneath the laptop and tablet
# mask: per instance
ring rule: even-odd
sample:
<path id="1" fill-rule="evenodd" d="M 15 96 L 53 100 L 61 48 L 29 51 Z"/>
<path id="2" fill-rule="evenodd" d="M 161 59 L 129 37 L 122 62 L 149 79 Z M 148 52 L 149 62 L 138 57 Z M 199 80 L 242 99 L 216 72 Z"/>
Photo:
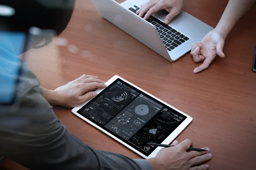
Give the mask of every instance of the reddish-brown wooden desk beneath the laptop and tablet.
<path id="1" fill-rule="evenodd" d="M 118 0 L 122 2 L 123 0 Z M 185 0 L 183 10 L 215 27 L 228 0 Z M 177 137 L 207 146 L 211 170 L 255 170 L 256 73 L 251 71 L 256 45 L 256 4 L 226 39 L 224 54 L 210 67 L 194 74 L 196 64 L 187 54 L 169 62 L 103 19 L 90 0 L 77 0 L 67 29 L 61 34 L 67 47 L 51 45 L 29 55 L 26 62 L 45 88 L 58 86 L 82 74 L 107 81 L 119 75 L 192 116 L 193 122 Z M 69 52 L 73 51 L 73 53 Z M 74 54 L 75 53 L 75 54 Z M 56 115 L 86 144 L 140 159 L 132 151 L 73 115 L 55 107 Z M 5 160 L 0 168 L 23 170 Z"/>

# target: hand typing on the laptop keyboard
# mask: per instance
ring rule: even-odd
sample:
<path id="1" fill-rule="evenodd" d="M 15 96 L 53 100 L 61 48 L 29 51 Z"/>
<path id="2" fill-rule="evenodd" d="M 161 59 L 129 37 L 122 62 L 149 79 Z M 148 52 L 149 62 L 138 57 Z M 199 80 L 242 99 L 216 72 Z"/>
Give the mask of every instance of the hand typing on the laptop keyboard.
<path id="1" fill-rule="evenodd" d="M 141 6 L 137 11 L 137 14 L 139 14 L 140 17 L 143 17 L 143 15 L 148 12 L 144 17 L 145 20 L 148 20 L 148 18 L 155 12 L 165 9 L 169 12 L 164 20 L 164 23 L 167 25 L 172 18 L 180 13 L 183 1 L 184 0 L 149 0 Z"/>

